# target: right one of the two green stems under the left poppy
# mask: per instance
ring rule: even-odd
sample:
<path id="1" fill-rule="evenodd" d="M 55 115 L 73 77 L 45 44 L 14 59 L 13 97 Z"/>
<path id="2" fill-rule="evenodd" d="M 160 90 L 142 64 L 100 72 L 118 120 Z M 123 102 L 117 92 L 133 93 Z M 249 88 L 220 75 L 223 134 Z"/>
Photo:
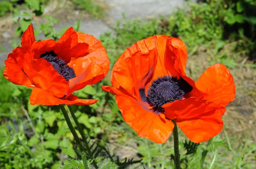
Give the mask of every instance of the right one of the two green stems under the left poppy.
<path id="1" fill-rule="evenodd" d="M 82 136 L 82 138 L 83 138 L 83 141 L 84 141 L 84 143 L 85 143 L 85 147 L 86 147 L 86 149 L 87 149 L 87 152 L 89 153 L 89 157 L 90 157 L 91 160 L 93 160 L 93 159 L 94 159 L 94 158 L 93 158 L 93 153 L 92 153 L 91 150 L 90 150 L 89 144 L 88 144 L 88 142 L 87 142 L 87 138 L 85 137 L 85 134 L 84 134 L 84 130 L 82 129 L 81 125 L 79 124 L 79 122 L 78 122 L 78 120 L 77 120 L 77 118 L 76 118 L 75 112 L 74 112 L 74 110 L 72 109 L 72 107 L 71 107 L 71 106 L 67 106 L 67 107 L 68 107 L 68 109 L 70 110 L 70 113 L 71 113 L 72 118 L 74 119 L 74 121 L 75 121 L 75 123 L 76 123 L 76 126 L 77 126 L 77 128 L 78 128 L 78 131 L 80 132 L 80 134 L 81 134 L 81 136 Z M 98 166 L 97 166 L 97 164 L 96 164 L 96 162 L 95 162 L 94 160 L 93 160 L 93 166 L 94 166 L 96 169 L 98 168 Z"/>

